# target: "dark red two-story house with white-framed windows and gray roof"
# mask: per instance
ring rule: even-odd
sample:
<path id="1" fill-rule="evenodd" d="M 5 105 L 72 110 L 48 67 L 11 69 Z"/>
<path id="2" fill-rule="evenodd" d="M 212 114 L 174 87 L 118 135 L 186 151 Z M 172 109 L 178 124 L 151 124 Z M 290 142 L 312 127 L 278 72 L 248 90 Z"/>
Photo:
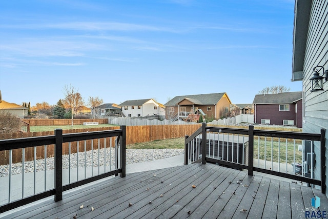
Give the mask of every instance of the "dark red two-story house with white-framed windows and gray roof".
<path id="1" fill-rule="evenodd" d="M 257 124 L 302 128 L 302 92 L 255 95 L 254 120 Z"/>

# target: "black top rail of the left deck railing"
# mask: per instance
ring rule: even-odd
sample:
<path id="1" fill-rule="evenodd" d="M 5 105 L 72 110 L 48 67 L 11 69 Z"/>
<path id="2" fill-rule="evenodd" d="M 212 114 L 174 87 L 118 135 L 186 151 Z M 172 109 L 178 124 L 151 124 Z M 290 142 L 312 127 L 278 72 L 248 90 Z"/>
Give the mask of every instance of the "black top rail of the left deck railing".
<path id="1" fill-rule="evenodd" d="M 63 134 L 63 143 L 75 142 L 83 140 L 91 140 L 95 138 L 113 137 L 122 134 L 122 129 L 113 129 L 106 131 L 95 132 L 79 132 Z M 42 145 L 55 144 L 55 135 L 38 136 L 38 137 L 25 137 L 25 138 L 12 138 L 6 140 L 0 140 L 0 151 L 28 148 Z"/>

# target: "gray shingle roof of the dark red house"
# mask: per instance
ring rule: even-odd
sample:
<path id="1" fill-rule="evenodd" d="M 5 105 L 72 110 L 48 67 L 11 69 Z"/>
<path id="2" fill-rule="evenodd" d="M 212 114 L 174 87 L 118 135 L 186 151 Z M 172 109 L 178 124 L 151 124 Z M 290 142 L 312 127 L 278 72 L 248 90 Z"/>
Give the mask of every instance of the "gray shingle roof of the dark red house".
<path id="1" fill-rule="evenodd" d="M 253 104 L 291 104 L 302 98 L 302 91 L 275 94 L 257 94 Z"/>

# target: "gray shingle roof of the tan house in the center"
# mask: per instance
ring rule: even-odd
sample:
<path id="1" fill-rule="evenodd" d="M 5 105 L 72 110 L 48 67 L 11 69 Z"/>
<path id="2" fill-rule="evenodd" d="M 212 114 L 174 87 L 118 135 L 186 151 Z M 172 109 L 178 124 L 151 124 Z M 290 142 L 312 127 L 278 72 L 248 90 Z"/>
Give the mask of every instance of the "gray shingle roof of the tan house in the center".
<path id="1" fill-rule="evenodd" d="M 183 99 L 198 104 L 198 105 L 213 105 L 217 104 L 225 93 L 209 93 L 209 94 L 196 94 L 196 95 L 185 95 L 176 96 L 171 101 L 165 104 L 165 106 L 175 106 Z"/>

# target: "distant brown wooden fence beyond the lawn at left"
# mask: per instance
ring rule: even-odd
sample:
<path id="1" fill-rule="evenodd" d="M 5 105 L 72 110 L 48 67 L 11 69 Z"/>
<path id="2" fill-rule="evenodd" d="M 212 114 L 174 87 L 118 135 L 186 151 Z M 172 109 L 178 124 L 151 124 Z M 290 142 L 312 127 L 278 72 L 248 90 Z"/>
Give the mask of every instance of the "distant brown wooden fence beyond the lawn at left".
<path id="1" fill-rule="evenodd" d="M 30 124 L 30 126 L 67 126 L 72 125 L 71 119 L 33 119 L 33 118 L 24 118 L 22 120 Z M 74 125 L 83 125 L 84 122 L 97 122 L 99 124 L 108 124 L 107 118 L 95 118 L 95 119 L 86 119 L 86 118 L 74 118 Z"/>

